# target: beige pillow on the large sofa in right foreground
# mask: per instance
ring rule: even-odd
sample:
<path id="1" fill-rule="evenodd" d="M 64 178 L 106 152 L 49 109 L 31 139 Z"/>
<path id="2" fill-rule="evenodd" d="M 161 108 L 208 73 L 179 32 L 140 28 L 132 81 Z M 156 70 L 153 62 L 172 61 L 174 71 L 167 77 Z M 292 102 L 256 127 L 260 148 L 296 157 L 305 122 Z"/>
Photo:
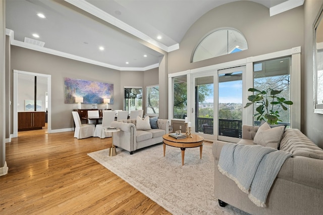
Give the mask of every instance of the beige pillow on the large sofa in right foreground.
<path id="1" fill-rule="evenodd" d="M 278 148 L 283 137 L 285 126 L 271 128 L 268 123 L 262 124 L 253 138 L 254 144 Z"/>

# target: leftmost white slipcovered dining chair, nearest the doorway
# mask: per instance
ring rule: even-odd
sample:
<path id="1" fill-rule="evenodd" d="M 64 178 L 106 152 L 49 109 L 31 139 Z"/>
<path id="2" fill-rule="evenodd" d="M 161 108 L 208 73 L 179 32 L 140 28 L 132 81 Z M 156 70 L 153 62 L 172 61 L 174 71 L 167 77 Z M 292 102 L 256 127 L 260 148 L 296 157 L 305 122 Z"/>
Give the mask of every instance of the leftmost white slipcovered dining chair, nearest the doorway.
<path id="1" fill-rule="evenodd" d="M 77 111 L 72 111 L 74 123 L 75 123 L 75 131 L 74 137 L 77 139 L 83 139 L 87 137 L 93 137 L 95 125 L 93 124 L 82 124 L 80 115 Z"/>

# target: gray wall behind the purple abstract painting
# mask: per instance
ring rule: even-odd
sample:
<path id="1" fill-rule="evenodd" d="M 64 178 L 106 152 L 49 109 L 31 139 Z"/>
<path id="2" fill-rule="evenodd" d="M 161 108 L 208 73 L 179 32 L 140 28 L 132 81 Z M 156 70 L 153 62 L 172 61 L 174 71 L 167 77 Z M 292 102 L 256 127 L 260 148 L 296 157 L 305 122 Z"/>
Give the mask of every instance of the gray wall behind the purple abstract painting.
<path id="1" fill-rule="evenodd" d="M 114 96 L 120 98 L 120 71 L 49 55 L 18 46 L 11 46 L 11 69 L 51 75 L 51 129 L 73 127 L 71 111 L 77 104 L 64 103 L 64 78 L 100 81 L 114 84 Z M 122 109 L 122 99 L 115 99 L 112 109 Z M 15 105 L 15 104 L 13 104 Z M 91 109 L 91 104 L 82 104 Z M 99 104 L 98 108 L 104 108 Z"/>

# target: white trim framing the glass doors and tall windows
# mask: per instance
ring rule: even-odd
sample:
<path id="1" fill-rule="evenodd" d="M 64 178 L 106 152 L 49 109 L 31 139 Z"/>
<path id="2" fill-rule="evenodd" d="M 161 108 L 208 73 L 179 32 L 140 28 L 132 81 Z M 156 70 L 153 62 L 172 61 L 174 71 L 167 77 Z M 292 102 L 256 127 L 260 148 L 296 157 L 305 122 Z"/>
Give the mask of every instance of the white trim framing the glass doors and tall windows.
<path id="1" fill-rule="evenodd" d="M 168 75 L 169 78 L 169 119 L 173 119 L 173 106 L 174 106 L 174 77 L 187 75 L 187 110 L 192 109 L 191 104 L 191 74 L 193 73 L 200 73 L 209 70 L 219 70 L 219 69 L 227 69 L 230 67 L 237 67 L 237 66 L 246 66 L 246 75 L 243 75 L 243 91 L 246 92 L 243 94 L 243 105 L 245 105 L 248 101 L 248 96 L 252 94 L 252 92 L 248 92 L 249 88 L 253 87 L 253 63 L 265 60 L 271 60 L 275 58 L 287 57 L 291 56 L 291 100 L 293 101 L 293 105 L 291 105 L 291 128 L 300 129 L 301 126 L 301 46 L 293 47 L 290 49 L 285 49 L 281 51 L 266 53 L 264 55 L 259 55 L 255 57 L 248 57 L 245 59 L 240 59 L 231 62 L 225 62 L 217 65 L 211 65 L 201 68 L 196 68 L 192 70 L 186 70 L 182 72 L 172 73 Z M 191 111 L 187 111 L 187 115 L 191 118 Z M 245 109 L 242 115 L 242 122 L 244 125 L 253 125 L 253 112 L 252 109 Z M 175 119 L 173 119 L 175 120 Z M 176 119 L 177 120 L 177 119 Z"/>

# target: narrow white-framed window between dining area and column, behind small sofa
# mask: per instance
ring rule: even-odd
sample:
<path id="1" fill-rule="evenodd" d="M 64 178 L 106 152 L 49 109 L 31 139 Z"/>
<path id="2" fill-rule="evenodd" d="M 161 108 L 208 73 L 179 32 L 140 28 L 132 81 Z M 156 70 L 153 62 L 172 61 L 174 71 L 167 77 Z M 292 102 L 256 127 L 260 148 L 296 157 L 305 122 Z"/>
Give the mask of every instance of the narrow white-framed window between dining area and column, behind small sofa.
<path id="1" fill-rule="evenodd" d="M 159 86 L 146 87 L 146 115 L 159 114 Z"/>

